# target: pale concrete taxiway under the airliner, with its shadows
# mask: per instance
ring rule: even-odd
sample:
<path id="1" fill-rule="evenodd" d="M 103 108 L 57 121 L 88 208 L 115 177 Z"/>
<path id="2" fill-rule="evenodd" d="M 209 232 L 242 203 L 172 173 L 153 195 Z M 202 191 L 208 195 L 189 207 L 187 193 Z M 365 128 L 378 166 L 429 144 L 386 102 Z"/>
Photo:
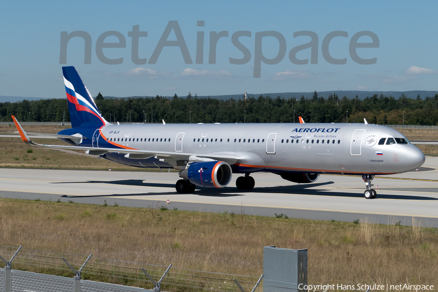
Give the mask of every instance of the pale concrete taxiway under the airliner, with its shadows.
<path id="1" fill-rule="evenodd" d="M 438 157 L 426 157 L 418 170 L 377 176 L 377 199 L 364 198 L 361 177 L 321 175 L 315 183 L 296 184 L 275 174 L 255 173 L 256 186 L 240 191 L 239 175 L 223 189 L 197 188 L 193 194 L 178 194 L 177 173 L 143 171 L 47 170 L 0 168 L 0 197 L 43 201 L 147 207 L 171 204 L 170 209 L 235 212 L 274 217 L 353 221 L 368 217 L 374 222 L 438 227 Z"/>

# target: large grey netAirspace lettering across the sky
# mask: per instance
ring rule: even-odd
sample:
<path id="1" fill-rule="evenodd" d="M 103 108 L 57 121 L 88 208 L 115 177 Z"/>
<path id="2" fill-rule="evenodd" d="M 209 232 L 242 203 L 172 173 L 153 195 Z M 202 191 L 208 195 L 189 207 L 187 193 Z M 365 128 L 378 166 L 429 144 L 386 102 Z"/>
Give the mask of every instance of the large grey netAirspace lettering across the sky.
<path id="1" fill-rule="evenodd" d="M 205 21 L 198 20 L 198 27 L 204 27 Z M 175 34 L 176 40 L 168 40 L 171 32 Z M 203 64 L 204 63 L 204 31 L 198 31 L 196 33 L 196 53 L 195 53 L 195 63 Z M 216 48 L 220 38 L 227 38 L 226 40 L 221 41 L 229 41 L 229 32 L 228 31 L 211 31 L 209 33 L 209 44 L 208 44 L 208 64 L 216 64 Z M 234 57 L 238 57 L 243 54 L 242 58 L 234 58 L 233 56 L 229 57 L 229 63 L 235 65 L 243 65 L 251 61 L 254 55 L 254 73 L 253 76 L 255 78 L 260 78 L 261 75 L 261 66 L 262 63 L 266 65 L 275 65 L 283 60 L 286 56 L 286 39 L 285 37 L 276 31 L 263 31 L 256 32 L 254 34 L 254 52 L 253 54 L 250 50 L 243 45 L 239 38 L 243 37 L 252 37 L 253 34 L 250 31 L 237 31 L 231 35 L 231 43 L 240 51 L 237 53 L 238 55 L 233 55 Z M 81 37 L 84 39 L 85 48 L 84 48 L 84 64 L 91 64 L 91 35 L 85 31 L 73 31 L 68 33 L 66 31 L 61 32 L 61 45 L 60 45 L 60 54 L 59 54 L 59 64 L 67 64 L 67 45 L 73 37 Z M 117 37 L 118 42 L 105 42 L 107 37 Z M 180 25 L 177 20 L 170 20 L 167 23 L 167 26 L 164 29 L 164 32 L 158 41 L 155 49 L 150 56 L 149 60 L 147 58 L 139 57 L 139 39 L 140 37 L 147 37 L 147 31 L 140 31 L 140 25 L 133 25 L 132 31 L 128 32 L 128 37 L 131 37 L 131 60 L 132 63 L 136 65 L 144 65 L 144 64 L 155 64 L 162 53 L 164 47 L 179 47 L 181 54 L 183 56 L 183 60 L 185 64 L 193 64 L 192 57 L 187 48 L 187 44 L 185 42 L 183 32 L 180 28 Z M 298 59 L 296 54 L 300 51 L 310 49 L 310 64 L 318 63 L 318 49 L 319 49 L 319 37 L 316 33 L 311 31 L 299 31 L 294 32 L 293 37 L 310 37 L 310 42 L 297 45 L 289 51 L 289 60 L 296 65 L 306 65 L 309 64 L 309 59 Z M 348 33 L 346 31 L 334 31 L 328 33 L 322 41 L 321 45 L 321 53 L 323 58 L 330 64 L 335 65 L 343 65 L 347 64 L 347 58 L 336 59 L 330 55 L 329 45 L 330 42 L 335 42 L 335 37 L 348 37 Z M 369 37 L 372 42 L 358 42 L 361 37 Z M 369 39 L 368 38 L 368 39 Z M 300 38 L 301 40 L 301 38 Z M 274 58 L 268 58 L 263 55 L 262 45 L 268 46 L 278 46 L 278 53 Z M 377 62 L 377 57 L 364 59 L 361 58 L 358 53 L 358 48 L 379 48 L 380 40 L 379 37 L 373 32 L 370 31 L 360 31 L 355 33 L 348 45 L 348 52 L 351 59 L 361 65 L 370 65 L 375 64 Z M 96 56 L 102 63 L 108 65 L 116 65 L 123 63 L 123 57 L 111 59 L 104 55 L 103 49 L 110 48 L 126 48 L 126 37 L 117 31 L 107 31 L 102 33 L 96 41 L 95 51 Z M 308 51 L 306 51 L 308 52 Z M 361 51 L 363 52 L 363 51 Z M 193 55 L 193 54 L 192 54 Z"/>

